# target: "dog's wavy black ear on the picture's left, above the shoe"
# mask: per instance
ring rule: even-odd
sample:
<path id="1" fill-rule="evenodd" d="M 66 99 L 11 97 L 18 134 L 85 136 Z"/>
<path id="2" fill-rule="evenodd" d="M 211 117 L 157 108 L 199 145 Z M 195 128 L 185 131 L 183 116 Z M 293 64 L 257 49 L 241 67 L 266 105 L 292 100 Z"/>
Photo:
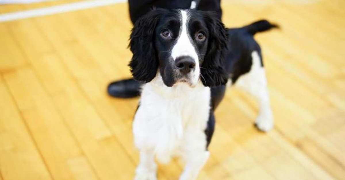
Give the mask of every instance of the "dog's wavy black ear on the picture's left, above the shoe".
<path id="1" fill-rule="evenodd" d="M 130 71 L 137 81 L 150 82 L 158 70 L 155 50 L 155 27 L 162 15 L 162 9 L 154 9 L 140 17 L 134 24 L 129 47 L 133 53 L 129 63 Z"/>

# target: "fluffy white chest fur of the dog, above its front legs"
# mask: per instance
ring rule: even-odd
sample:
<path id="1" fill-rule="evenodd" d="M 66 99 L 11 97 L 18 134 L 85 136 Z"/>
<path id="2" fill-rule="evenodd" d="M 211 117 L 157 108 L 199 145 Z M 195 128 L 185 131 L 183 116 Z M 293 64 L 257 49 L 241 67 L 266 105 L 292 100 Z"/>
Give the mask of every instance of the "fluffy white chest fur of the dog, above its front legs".
<path id="1" fill-rule="evenodd" d="M 167 87 L 158 75 L 142 87 L 133 123 L 135 145 L 154 151 L 162 163 L 172 156 L 186 160 L 190 153 L 205 151 L 209 110 L 209 87 L 201 83 L 193 88 L 185 83 Z"/>

